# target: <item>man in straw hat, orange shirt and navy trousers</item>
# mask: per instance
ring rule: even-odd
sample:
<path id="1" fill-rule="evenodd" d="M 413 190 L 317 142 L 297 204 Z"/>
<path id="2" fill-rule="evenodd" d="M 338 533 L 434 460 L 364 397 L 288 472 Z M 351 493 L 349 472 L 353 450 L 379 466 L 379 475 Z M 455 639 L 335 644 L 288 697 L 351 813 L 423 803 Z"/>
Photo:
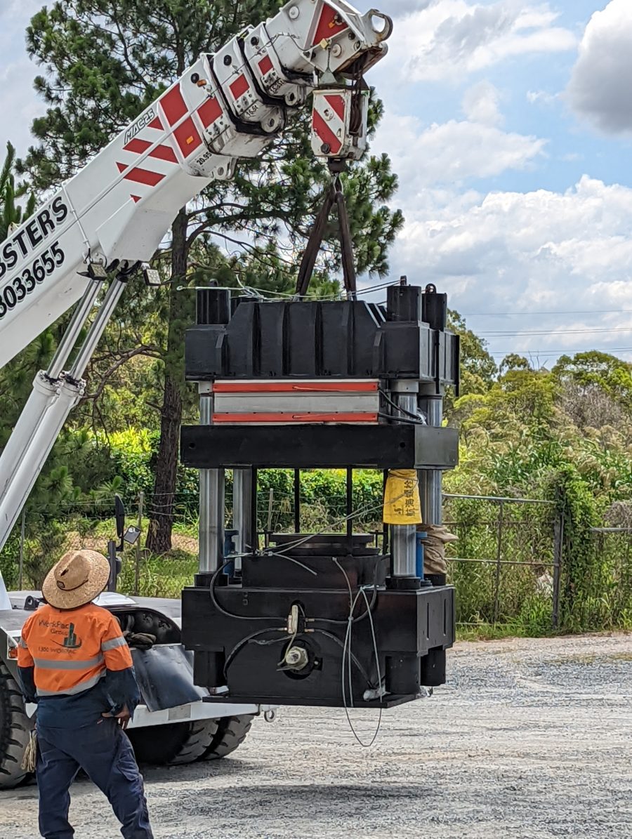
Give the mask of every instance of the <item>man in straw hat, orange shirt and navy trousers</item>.
<path id="1" fill-rule="evenodd" d="M 45 839 L 74 836 L 69 790 L 80 769 L 107 795 L 125 839 L 153 839 L 143 777 L 124 733 L 140 699 L 132 654 L 117 619 L 92 602 L 109 576 L 97 551 L 63 556 L 18 645 L 24 696 L 37 703 L 35 774 Z"/>

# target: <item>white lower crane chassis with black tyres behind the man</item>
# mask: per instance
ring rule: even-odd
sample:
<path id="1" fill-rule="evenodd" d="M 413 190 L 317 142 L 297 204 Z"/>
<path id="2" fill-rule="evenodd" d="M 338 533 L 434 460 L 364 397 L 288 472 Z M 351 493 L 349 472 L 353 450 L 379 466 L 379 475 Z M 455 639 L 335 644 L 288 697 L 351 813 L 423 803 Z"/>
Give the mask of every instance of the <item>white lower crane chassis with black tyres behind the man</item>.
<path id="1" fill-rule="evenodd" d="M 0 789 L 29 779 L 21 764 L 36 706 L 24 702 L 17 654 L 24 621 L 39 606 L 41 594 L 12 591 L 8 597 L 12 608 L 0 610 Z M 139 763 L 177 765 L 224 758 L 243 743 L 256 717 L 274 719 L 271 705 L 210 706 L 204 701 L 208 691 L 193 685 L 192 656 L 180 644 L 179 600 L 104 592 L 95 602 L 112 612 L 132 638 L 142 698 L 128 737 Z M 155 644 L 150 649 L 134 646 L 138 633 L 154 635 Z"/>

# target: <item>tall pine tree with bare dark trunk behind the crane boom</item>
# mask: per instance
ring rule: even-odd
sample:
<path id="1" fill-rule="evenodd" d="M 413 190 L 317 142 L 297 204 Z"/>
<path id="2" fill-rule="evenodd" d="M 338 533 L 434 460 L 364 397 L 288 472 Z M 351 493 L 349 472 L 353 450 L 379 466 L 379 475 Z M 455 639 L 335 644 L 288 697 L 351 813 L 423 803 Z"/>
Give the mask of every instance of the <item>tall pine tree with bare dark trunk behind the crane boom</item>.
<path id="1" fill-rule="evenodd" d="M 198 55 L 217 50 L 280 5 L 277 0 L 65 0 L 43 8 L 29 26 L 27 44 L 30 55 L 44 66 L 45 75 L 35 80 L 35 87 L 48 109 L 34 121 L 39 145 L 29 149 L 20 171 L 38 188 L 59 184 L 154 102 Z M 374 101 L 373 127 L 381 112 Z M 247 237 L 264 253 L 272 248 L 277 257 L 274 246 L 283 234 L 298 252 L 327 179 L 326 169 L 312 157 L 309 114 L 304 111 L 259 159 L 243 161 L 230 183 L 213 183 L 195 209 L 182 207 L 175 216 L 170 245 L 159 256 L 166 262 L 170 286 L 164 303 L 164 388 L 154 487 L 154 498 L 162 500 L 149 529 L 150 550 L 170 550 L 170 499 L 185 395 L 182 347 L 194 316 L 193 295 L 177 289 L 185 284 L 191 248 L 212 235 L 223 237 L 232 249 L 243 248 L 239 242 Z M 388 270 L 387 249 L 403 221 L 399 211 L 385 206 L 396 184 L 385 155 L 354 167 L 347 176 L 359 273 L 383 275 Z M 265 277 L 266 259 L 260 264 Z M 337 265 L 337 249 L 330 248 L 321 267 L 326 271 Z"/>

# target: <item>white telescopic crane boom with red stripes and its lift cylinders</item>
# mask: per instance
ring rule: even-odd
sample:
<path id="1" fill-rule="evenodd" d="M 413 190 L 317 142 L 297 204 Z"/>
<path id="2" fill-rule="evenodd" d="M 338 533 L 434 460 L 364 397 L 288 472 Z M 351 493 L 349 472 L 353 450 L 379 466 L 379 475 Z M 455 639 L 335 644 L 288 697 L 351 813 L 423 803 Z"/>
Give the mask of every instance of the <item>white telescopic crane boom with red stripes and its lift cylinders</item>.
<path id="1" fill-rule="evenodd" d="M 238 159 L 257 157 L 283 132 L 323 73 L 357 78 L 379 61 L 391 29 L 374 9 L 291 0 L 214 55 L 201 55 L 0 245 L 0 367 L 81 300 L 0 456 L 0 549 L 81 399 L 81 377 L 124 280 L 154 256 L 181 206 L 213 180 L 229 180 Z M 107 297 L 64 373 L 108 275 Z M 0 577 L 0 601 L 2 590 Z"/>

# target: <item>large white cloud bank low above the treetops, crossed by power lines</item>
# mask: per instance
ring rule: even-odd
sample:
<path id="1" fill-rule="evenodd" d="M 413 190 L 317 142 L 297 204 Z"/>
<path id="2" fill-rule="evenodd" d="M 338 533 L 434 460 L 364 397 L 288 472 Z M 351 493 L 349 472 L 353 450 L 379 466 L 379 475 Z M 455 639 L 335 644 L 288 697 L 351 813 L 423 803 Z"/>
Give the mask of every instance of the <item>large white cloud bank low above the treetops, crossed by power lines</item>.
<path id="1" fill-rule="evenodd" d="M 488 310 L 490 319 L 477 320 L 476 329 L 503 328 L 494 310 L 632 308 L 632 189 L 585 175 L 563 193 L 426 190 L 423 201 L 403 209 L 392 275 L 436 283 L 458 310 Z M 551 334 L 490 339 L 492 349 L 632 347 L 632 316 L 624 311 L 544 324 L 522 317 L 519 324 L 520 331 Z M 608 332 L 578 332 L 598 328 Z"/>

